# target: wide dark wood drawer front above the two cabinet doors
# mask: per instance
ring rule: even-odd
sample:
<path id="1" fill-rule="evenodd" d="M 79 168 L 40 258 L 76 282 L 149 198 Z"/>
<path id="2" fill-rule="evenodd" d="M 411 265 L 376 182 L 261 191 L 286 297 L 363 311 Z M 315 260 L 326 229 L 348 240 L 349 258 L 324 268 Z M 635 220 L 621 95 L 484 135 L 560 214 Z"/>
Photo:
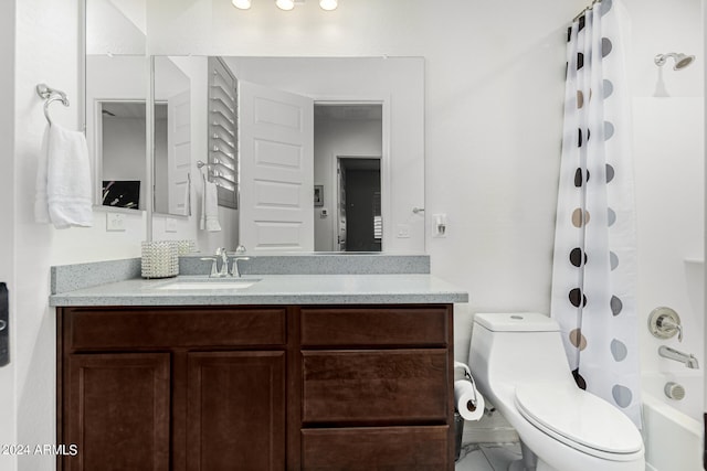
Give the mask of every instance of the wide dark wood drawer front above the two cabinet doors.
<path id="1" fill-rule="evenodd" d="M 285 344 L 285 308 L 135 308 L 65 311 L 66 345 L 82 349 Z"/>

